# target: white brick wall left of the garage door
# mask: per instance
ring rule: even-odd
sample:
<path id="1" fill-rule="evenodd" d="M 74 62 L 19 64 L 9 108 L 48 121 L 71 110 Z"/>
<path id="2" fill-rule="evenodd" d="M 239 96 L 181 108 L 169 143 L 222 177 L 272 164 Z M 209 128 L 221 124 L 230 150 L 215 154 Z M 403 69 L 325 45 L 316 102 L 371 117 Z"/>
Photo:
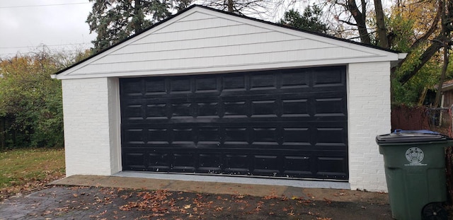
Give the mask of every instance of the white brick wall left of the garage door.
<path id="1" fill-rule="evenodd" d="M 66 174 L 120 171 L 117 79 L 62 81 Z M 110 90 L 110 91 L 109 91 Z"/>

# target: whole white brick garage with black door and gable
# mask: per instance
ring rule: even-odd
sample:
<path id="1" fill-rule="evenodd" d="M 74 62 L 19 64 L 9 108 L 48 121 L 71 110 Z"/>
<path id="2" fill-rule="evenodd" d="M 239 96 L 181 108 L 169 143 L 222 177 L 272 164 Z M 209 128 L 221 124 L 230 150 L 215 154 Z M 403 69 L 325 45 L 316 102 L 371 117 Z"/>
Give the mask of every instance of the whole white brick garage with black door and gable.
<path id="1" fill-rule="evenodd" d="M 190 6 L 53 75 L 67 176 L 385 191 L 405 56 Z"/>

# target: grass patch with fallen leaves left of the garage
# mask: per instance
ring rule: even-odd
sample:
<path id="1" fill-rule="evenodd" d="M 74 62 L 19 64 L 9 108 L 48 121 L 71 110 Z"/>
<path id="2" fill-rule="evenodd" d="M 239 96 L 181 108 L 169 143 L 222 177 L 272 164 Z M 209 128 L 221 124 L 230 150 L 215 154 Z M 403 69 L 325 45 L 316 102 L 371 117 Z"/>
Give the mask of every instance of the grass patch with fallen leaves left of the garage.
<path id="1" fill-rule="evenodd" d="M 0 200 L 64 177 L 64 149 L 0 152 Z"/>

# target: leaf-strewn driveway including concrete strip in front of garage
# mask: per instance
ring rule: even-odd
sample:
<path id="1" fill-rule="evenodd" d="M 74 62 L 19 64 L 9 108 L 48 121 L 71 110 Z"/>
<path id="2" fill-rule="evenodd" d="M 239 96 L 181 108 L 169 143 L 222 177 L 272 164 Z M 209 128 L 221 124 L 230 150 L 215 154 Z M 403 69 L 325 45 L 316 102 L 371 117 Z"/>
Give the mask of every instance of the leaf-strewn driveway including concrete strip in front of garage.
<path id="1" fill-rule="evenodd" d="M 392 218 L 379 192 L 76 176 L 0 202 L 0 219 Z"/>

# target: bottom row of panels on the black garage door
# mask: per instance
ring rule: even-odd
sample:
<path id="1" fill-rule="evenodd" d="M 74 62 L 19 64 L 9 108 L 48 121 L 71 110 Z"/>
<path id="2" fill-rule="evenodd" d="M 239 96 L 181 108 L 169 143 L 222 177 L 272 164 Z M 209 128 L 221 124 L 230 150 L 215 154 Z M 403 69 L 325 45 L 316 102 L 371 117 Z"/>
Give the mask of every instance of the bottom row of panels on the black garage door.
<path id="1" fill-rule="evenodd" d="M 239 153 L 239 154 L 238 154 Z M 333 155 L 297 156 L 291 152 L 272 155 L 216 152 L 123 152 L 122 170 L 159 173 L 247 175 L 275 178 L 348 180 L 343 152 Z"/>

